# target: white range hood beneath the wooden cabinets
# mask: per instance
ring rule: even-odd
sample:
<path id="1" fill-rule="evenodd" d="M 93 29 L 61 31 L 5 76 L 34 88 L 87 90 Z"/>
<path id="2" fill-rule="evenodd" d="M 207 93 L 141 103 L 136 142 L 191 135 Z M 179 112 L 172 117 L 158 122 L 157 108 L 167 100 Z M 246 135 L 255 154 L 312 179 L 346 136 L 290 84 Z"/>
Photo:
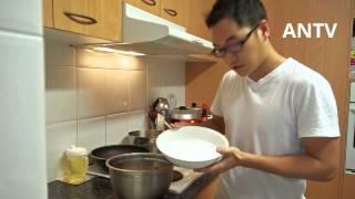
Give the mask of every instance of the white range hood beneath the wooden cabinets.
<path id="1" fill-rule="evenodd" d="M 210 53 L 210 41 L 186 32 L 186 29 L 165 19 L 123 2 L 123 43 L 101 44 L 112 50 L 148 55 Z"/>

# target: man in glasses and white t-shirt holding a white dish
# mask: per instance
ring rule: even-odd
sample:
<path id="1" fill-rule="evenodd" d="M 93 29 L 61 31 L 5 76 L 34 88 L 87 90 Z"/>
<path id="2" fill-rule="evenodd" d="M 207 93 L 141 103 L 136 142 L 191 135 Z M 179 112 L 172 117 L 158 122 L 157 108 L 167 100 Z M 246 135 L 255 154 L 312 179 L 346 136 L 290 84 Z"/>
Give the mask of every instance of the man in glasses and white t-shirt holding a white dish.
<path id="1" fill-rule="evenodd" d="M 334 178 L 339 129 L 328 82 L 273 49 L 260 0 L 217 0 L 206 24 L 213 54 L 231 66 L 211 106 L 231 147 L 199 170 L 221 172 L 216 198 L 302 199 L 304 179 Z"/>

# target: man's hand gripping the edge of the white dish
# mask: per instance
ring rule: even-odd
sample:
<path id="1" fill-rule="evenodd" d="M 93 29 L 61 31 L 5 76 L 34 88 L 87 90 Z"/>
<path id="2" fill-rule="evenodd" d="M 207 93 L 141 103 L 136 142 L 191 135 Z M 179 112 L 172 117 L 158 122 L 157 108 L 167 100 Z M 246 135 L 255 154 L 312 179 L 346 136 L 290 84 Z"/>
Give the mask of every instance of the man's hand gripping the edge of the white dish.
<path id="1" fill-rule="evenodd" d="M 240 166 L 243 158 L 243 151 L 236 147 L 219 147 L 217 153 L 220 153 L 223 158 L 221 161 L 201 169 L 195 169 L 197 172 L 224 172 L 235 166 Z"/>

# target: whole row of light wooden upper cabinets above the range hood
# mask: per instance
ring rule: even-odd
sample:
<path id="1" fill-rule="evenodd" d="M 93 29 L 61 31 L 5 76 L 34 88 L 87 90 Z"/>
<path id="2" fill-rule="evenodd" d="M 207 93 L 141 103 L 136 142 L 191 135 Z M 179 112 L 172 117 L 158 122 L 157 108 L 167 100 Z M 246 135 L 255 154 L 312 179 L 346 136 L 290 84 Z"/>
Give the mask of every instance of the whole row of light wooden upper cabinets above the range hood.
<path id="1" fill-rule="evenodd" d="M 205 15 L 215 0 L 43 0 L 43 24 L 92 38 L 122 41 L 122 1 L 211 40 Z"/>

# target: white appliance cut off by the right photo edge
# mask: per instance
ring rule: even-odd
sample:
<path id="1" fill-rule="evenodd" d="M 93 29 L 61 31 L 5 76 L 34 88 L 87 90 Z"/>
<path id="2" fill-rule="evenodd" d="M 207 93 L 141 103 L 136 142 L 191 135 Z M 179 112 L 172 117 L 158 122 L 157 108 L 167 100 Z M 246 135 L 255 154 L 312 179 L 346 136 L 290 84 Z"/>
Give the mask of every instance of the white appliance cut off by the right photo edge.
<path id="1" fill-rule="evenodd" d="M 346 159 L 345 169 L 348 174 L 355 174 L 355 82 L 351 83 L 347 137 L 346 137 Z"/>

